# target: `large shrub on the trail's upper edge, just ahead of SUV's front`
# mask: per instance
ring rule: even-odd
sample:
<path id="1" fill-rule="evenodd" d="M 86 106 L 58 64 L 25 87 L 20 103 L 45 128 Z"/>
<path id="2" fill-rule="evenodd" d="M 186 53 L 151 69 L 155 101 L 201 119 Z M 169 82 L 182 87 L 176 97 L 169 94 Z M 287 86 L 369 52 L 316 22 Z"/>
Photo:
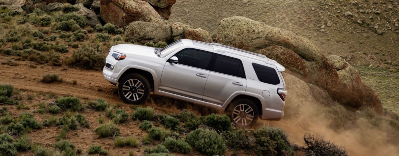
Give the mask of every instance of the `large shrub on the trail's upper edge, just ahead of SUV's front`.
<path id="1" fill-rule="evenodd" d="M 75 50 L 65 63 L 69 66 L 85 69 L 101 70 L 104 67 L 106 56 L 102 51 L 90 44 L 83 44 L 79 50 Z"/>

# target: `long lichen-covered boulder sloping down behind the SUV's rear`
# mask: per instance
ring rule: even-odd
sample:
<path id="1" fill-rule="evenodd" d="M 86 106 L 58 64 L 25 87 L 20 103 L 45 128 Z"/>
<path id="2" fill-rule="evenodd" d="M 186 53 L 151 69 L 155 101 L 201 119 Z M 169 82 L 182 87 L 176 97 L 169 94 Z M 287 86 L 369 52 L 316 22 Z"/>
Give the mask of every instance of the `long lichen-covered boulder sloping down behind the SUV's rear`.
<path id="1" fill-rule="evenodd" d="M 245 17 L 229 17 L 219 23 L 217 41 L 276 60 L 296 77 L 325 89 L 341 104 L 367 105 L 382 112 L 379 97 L 367 90 L 353 67 L 336 56 L 327 58 L 309 40 L 294 33 Z"/>

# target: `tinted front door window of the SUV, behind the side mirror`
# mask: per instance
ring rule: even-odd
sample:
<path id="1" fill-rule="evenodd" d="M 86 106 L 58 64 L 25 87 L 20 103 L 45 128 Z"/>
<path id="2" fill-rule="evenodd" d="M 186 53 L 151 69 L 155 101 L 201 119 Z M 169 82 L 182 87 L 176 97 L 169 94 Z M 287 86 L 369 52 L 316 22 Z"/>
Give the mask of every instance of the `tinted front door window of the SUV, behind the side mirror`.
<path id="1" fill-rule="evenodd" d="M 195 49 L 184 49 L 175 56 L 179 59 L 179 64 L 207 69 L 212 55 L 213 54 L 210 52 L 204 52 Z"/>

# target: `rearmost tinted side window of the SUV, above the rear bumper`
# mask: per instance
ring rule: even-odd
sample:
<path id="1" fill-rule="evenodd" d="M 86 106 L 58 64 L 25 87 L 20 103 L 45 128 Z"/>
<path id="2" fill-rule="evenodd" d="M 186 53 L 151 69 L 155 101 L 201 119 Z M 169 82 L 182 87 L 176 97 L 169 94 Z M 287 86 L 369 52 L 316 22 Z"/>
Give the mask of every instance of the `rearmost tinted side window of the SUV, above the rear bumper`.
<path id="1" fill-rule="evenodd" d="M 272 85 L 280 84 L 280 78 L 277 75 L 276 69 L 255 63 L 252 63 L 252 66 L 259 81 Z"/>

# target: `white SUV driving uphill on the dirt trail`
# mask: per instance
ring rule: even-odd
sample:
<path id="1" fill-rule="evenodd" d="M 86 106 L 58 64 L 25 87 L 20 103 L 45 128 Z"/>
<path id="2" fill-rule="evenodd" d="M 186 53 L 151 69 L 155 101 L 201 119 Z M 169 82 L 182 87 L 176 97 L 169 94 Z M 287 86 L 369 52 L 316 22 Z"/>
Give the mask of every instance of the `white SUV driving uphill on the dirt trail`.
<path id="1" fill-rule="evenodd" d="M 126 103 L 150 92 L 226 111 L 238 126 L 284 116 L 285 68 L 264 55 L 217 43 L 178 40 L 165 48 L 111 47 L 103 69 Z"/>

